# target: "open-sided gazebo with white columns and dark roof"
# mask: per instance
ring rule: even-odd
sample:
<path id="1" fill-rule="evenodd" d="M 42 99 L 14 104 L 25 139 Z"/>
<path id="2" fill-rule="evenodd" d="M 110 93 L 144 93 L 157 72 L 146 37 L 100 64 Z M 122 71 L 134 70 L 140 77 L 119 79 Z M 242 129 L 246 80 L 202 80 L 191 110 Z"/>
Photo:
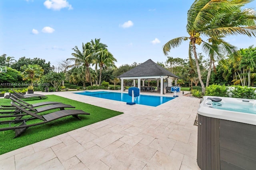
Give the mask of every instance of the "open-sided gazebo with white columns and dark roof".
<path id="1" fill-rule="evenodd" d="M 178 76 L 172 74 L 172 72 L 159 66 L 151 59 L 118 76 L 118 78 L 121 79 L 121 91 L 124 91 L 124 80 L 133 80 L 133 86 L 135 86 L 136 80 L 138 80 L 139 89 L 141 86 L 141 81 L 142 86 L 144 86 L 145 80 L 156 80 L 157 87 L 159 88 L 160 80 L 160 94 L 163 94 L 164 92 L 164 80 L 168 80 L 168 87 L 170 87 L 172 86 L 173 80 L 175 84 L 177 84 L 177 80 L 179 79 Z"/>

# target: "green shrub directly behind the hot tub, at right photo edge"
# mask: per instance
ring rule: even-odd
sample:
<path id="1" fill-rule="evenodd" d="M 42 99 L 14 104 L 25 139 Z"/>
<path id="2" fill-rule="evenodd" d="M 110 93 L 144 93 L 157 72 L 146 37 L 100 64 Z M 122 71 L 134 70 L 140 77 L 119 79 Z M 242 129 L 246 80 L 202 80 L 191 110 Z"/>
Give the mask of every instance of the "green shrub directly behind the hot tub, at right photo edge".
<path id="1" fill-rule="evenodd" d="M 247 86 L 235 86 L 230 90 L 232 98 L 256 99 L 255 88 Z"/>

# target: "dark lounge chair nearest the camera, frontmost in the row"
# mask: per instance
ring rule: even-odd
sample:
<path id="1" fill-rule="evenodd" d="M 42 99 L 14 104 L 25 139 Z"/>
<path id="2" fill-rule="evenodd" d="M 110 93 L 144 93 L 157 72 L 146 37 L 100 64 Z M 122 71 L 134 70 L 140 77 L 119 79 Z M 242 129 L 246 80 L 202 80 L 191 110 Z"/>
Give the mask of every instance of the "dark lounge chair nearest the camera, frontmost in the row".
<path id="1" fill-rule="evenodd" d="M 22 123 L 20 125 L 18 125 L 18 126 L 17 125 L 16 126 L 11 126 L 12 123 L 10 123 L 9 127 L 0 128 L 0 131 L 14 130 L 15 131 L 15 137 L 20 136 L 20 134 L 23 133 L 26 129 L 28 129 L 28 127 L 32 127 L 32 126 L 48 123 L 50 121 L 54 121 L 54 120 L 60 119 L 62 117 L 66 117 L 66 116 L 72 115 L 73 117 L 76 117 L 77 119 L 81 120 L 78 115 L 90 115 L 90 113 L 86 113 L 86 112 L 84 112 L 82 110 L 69 109 L 69 110 L 55 111 L 53 113 L 49 113 L 49 114 L 41 116 L 41 115 L 37 115 L 36 113 L 32 113 L 31 111 L 28 111 L 28 110 L 24 109 L 21 106 L 18 106 L 14 102 L 11 102 L 11 105 L 14 106 L 14 107 L 17 107 L 17 109 L 20 109 L 22 112 L 24 112 L 24 113 L 26 113 L 28 115 L 31 115 L 35 119 L 42 120 L 42 122 L 33 123 L 33 124 L 27 125 L 26 121 L 29 120 L 29 119 L 27 119 L 27 120 L 23 120 Z"/>

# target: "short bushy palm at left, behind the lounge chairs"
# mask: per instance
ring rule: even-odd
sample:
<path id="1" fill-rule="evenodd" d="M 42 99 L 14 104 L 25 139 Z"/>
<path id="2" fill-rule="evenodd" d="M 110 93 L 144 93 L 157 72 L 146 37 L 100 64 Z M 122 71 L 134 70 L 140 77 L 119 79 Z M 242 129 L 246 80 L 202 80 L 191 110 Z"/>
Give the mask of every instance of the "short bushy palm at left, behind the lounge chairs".
<path id="1" fill-rule="evenodd" d="M 39 80 L 44 69 L 37 64 L 28 64 L 21 67 L 23 72 L 21 72 L 22 80 L 31 80 L 31 86 L 33 87 L 33 81 Z"/>

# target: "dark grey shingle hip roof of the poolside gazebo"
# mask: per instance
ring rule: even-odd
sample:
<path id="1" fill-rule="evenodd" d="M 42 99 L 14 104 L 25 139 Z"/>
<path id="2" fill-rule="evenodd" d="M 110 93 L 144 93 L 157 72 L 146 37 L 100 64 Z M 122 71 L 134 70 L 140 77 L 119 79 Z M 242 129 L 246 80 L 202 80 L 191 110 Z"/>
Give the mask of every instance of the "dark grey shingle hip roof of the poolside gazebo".
<path id="1" fill-rule="evenodd" d="M 170 76 L 174 78 L 179 78 L 178 76 L 174 75 L 172 72 L 156 64 L 151 59 L 136 66 L 135 68 L 132 68 L 131 70 L 125 72 L 124 74 L 121 74 L 120 76 L 118 76 L 118 78 L 147 77 L 147 76 Z"/>

